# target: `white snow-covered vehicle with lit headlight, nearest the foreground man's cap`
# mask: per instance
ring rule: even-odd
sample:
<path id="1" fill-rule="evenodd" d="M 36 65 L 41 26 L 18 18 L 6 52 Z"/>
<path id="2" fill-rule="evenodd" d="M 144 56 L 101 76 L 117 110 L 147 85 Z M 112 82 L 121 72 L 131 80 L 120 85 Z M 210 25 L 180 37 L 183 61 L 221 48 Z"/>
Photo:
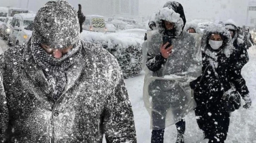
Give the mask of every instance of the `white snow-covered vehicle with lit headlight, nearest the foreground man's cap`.
<path id="1" fill-rule="evenodd" d="M 8 44 L 19 45 L 28 42 L 33 31 L 33 21 L 36 14 L 20 13 L 15 14 L 12 23 L 11 31 L 8 37 Z"/>

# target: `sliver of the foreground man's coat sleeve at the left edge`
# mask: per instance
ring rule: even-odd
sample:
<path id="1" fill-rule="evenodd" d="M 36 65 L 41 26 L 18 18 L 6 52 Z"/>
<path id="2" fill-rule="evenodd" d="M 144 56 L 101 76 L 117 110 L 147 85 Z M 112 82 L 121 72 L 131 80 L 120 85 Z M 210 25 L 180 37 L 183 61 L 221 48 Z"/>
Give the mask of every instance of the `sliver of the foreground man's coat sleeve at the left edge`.
<path id="1" fill-rule="evenodd" d="M 8 127 L 8 108 L 4 91 L 4 85 L 0 76 L 0 142 L 6 141 L 6 130 Z"/>

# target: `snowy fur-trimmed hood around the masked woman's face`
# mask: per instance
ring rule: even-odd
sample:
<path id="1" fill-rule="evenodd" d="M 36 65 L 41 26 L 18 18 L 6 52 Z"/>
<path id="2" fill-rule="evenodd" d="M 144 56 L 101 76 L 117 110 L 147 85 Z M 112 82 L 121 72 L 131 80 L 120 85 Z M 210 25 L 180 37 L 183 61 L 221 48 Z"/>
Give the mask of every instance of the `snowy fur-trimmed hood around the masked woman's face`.
<path id="1" fill-rule="evenodd" d="M 218 51 L 214 51 L 209 45 L 209 38 L 213 33 L 217 33 L 221 35 L 223 39 L 223 45 L 220 47 L 221 53 L 224 53 L 227 58 L 230 57 L 230 54 L 233 52 L 233 46 L 231 44 L 231 35 L 230 35 L 230 32 L 226 30 L 225 26 L 219 23 L 213 23 L 203 31 L 202 45 L 201 45 L 202 51 L 207 55 L 218 53 Z M 210 57 L 213 57 L 213 56 L 210 56 Z"/>

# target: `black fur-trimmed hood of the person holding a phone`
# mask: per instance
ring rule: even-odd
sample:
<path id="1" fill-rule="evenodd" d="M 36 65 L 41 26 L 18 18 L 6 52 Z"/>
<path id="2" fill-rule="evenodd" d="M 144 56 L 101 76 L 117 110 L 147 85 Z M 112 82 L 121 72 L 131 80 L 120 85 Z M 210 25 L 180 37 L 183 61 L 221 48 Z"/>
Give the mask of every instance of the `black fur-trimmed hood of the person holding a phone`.
<path id="1" fill-rule="evenodd" d="M 156 15 L 156 23 L 159 33 L 164 34 L 165 25 L 163 20 L 175 23 L 175 37 L 179 37 L 186 24 L 186 18 L 183 7 L 180 3 L 175 1 L 168 1 L 163 8 L 159 10 Z"/>

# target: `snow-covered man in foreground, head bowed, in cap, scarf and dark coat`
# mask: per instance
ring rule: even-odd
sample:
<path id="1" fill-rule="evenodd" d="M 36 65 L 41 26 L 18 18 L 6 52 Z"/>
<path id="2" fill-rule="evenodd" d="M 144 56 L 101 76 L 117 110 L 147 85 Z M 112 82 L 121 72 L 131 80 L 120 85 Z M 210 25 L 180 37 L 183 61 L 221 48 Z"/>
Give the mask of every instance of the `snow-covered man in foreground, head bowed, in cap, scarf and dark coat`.
<path id="1" fill-rule="evenodd" d="M 36 14 L 31 40 L 0 56 L 0 142 L 136 142 L 120 67 L 80 39 L 66 1 Z"/>

